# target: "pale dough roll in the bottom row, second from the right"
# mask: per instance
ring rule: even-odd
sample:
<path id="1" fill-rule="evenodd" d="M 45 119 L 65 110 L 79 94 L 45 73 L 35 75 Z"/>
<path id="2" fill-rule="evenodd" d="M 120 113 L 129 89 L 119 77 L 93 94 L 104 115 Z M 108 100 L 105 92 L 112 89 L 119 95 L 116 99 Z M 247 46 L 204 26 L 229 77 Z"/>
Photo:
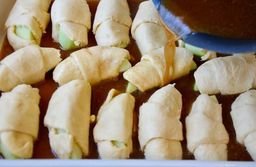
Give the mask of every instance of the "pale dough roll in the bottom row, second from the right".
<path id="1" fill-rule="evenodd" d="M 196 160 L 227 160 L 229 134 L 222 123 L 222 107 L 201 94 L 186 117 L 187 147 Z"/>

